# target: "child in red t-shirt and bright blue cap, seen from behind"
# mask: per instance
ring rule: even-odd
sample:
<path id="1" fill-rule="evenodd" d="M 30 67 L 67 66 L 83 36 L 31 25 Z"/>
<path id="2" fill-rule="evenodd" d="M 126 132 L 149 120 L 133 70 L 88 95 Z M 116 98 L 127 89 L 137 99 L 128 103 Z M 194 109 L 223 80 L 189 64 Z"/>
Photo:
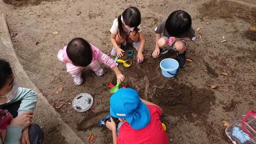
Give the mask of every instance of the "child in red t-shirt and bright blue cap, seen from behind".
<path id="1" fill-rule="evenodd" d="M 112 131 L 114 144 L 168 144 L 160 116 L 162 109 L 154 103 L 143 100 L 131 88 L 120 88 L 110 97 L 110 114 L 113 118 L 106 122 Z"/>

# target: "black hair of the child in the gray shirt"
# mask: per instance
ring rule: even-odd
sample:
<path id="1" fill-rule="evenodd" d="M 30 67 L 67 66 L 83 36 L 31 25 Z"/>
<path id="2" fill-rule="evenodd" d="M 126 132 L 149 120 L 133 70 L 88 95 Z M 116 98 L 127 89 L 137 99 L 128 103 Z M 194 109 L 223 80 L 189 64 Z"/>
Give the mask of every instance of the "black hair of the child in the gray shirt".
<path id="1" fill-rule="evenodd" d="M 185 11 L 174 11 L 166 20 L 165 29 L 169 35 L 179 37 L 188 32 L 191 28 L 192 20 Z"/>

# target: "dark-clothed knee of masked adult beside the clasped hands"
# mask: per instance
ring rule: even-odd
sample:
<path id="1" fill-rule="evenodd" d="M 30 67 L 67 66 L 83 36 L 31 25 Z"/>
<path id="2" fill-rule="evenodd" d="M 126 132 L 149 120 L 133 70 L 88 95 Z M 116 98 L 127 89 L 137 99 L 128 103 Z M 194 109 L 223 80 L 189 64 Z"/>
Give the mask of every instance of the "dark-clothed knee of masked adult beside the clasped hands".
<path id="1" fill-rule="evenodd" d="M 44 132 L 37 124 L 29 126 L 29 141 L 31 144 L 41 144 L 44 140 Z"/>

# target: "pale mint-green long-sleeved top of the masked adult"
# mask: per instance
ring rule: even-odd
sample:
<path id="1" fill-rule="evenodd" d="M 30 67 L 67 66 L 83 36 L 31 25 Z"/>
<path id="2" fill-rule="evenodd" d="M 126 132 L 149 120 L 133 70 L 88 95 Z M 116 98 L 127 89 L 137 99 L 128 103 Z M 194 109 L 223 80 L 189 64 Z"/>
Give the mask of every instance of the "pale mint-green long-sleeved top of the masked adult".
<path id="1" fill-rule="evenodd" d="M 28 88 L 19 87 L 17 96 L 12 99 L 11 102 L 5 103 L 1 106 L 10 105 L 11 103 L 21 101 L 18 115 L 26 111 L 34 111 L 37 105 L 37 93 Z M 23 126 L 7 126 L 4 144 L 19 144 L 19 140 L 22 134 Z M 2 144 L 0 140 L 0 144 Z"/>

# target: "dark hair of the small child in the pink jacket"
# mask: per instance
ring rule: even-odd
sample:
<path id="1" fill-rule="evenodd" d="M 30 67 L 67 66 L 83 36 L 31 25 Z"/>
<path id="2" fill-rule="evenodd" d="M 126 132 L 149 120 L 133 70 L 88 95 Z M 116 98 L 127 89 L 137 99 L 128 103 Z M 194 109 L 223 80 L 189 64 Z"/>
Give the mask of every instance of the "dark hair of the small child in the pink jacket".
<path id="1" fill-rule="evenodd" d="M 86 67 L 93 60 L 91 45 L 83 38 L 74 38 L 68 43 L 67 55 L 78 67 Z"/>

